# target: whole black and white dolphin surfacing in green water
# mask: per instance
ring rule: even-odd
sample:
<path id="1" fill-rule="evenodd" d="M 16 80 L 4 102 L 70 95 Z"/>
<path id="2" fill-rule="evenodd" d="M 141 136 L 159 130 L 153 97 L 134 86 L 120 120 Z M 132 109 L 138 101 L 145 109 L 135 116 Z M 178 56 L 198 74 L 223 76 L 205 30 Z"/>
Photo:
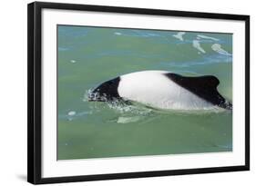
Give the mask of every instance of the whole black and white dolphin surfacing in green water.
<path id="1" fill-rule="evenodd" d="M 212 75 L 182 76 L 166 71 L 128 73 L 101 83 L 88 95 L 89 101 L 135 101 L 160 109 L 232 109 L 217 90 L 220 81 Z"/>

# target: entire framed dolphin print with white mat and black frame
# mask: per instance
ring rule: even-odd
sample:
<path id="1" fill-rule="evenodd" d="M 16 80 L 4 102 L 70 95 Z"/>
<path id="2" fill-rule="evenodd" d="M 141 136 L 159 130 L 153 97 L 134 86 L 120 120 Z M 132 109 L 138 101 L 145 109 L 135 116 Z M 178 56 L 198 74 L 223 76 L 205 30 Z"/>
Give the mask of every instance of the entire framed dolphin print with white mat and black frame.
<path id="1" fill-rule="evenodd" d="M 250 169 L 250 16 L 28 5 L 31 183 Z"/>

